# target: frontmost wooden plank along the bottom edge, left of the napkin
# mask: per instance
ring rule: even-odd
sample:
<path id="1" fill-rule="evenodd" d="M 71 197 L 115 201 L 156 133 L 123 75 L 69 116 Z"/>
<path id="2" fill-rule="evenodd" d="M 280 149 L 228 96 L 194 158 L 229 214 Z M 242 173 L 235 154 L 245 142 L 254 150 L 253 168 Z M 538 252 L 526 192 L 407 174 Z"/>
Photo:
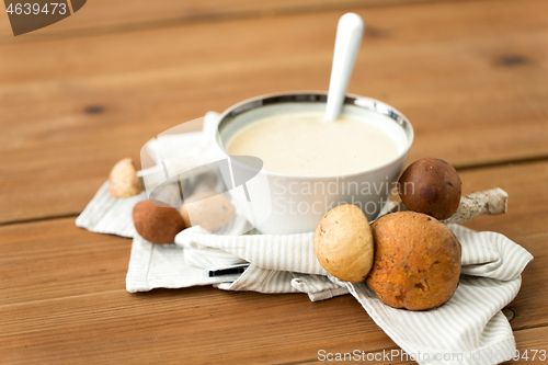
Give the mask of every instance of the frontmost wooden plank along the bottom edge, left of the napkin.
<path id="1" fill-rule="evenodd" d="M 0 313 L 3 364 L 299 363 L 319 350 L 393 346 L 350 296 L 310 303 L 214 288 L 117 290 L 2 306 Z"/>

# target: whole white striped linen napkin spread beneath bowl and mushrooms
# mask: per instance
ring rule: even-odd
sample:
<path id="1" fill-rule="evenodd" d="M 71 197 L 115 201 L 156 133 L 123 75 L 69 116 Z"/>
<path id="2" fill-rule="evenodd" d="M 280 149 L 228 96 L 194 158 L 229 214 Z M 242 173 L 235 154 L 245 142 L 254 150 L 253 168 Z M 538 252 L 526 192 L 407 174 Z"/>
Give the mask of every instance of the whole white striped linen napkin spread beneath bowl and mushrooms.
<path id="1" fill-rule="evenodd" d="M 205 124 L 215 123 L 216 117 L 208 113 Z M 165 142 L 181 146 L 176 138 L 169 136 Z M 203 159 L 199 146 L 205 145 L 199 140 L 206 139 L 199 133 L 181 138 L 196 141 L 187 150 L 173 149 L 185 163 Z M 157 138 L 156 147 L 162 142 L 162 137 Z M 148 148 L 155 157 L 155 147 Z M 442 307 L 408 311 L 384 305 L 365 284 L 328 275 L 316 259 L 313 233 L 238 235 L 247 224 L 240 212 L 219 231 L 192 227 L 176 236 L 176 244 L 151 244 L 136 233 L 132 221 L 133 206 L 146 198 L 146 193 L 113 198 L 105 183 L 76 221 L 91 231 L 134 237 L 126 277 L 130 293 L 214 285 L 227 290 L 306 293 L 316 301 L 350 292 L 420 364 L 498 364 L 512 357 L 515 350 L 512 329 L 501 309 L 516 296 L 521 273 L 533 256 L 502 235 L 449 225 L 463 246 L 460 284 Z M 242 263 L 249 267 L 241 275 L 204 275 L 205 269 Z"/>

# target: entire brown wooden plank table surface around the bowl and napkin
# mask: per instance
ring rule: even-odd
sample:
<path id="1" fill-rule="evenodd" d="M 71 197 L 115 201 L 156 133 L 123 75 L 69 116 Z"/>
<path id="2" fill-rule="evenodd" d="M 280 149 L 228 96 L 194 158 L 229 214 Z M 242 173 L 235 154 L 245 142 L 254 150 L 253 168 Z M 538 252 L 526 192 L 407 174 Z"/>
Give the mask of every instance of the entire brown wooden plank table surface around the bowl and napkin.
<path id="1" fill-rule="evenodd" d="M 112 166 L 139 161 L 158 133 L 253 95 L 327 90 L 347 11 L 367 23 L 349 92 L 410 118 L 409 161 L 449 161 L 465 194 L 510 194 L 506 215 L 466 226 L 535 255 L 507 308 L 518 350 L 548 350 L 546 0 L 90 0 L 18 37 L 0 15 L 1 364 L 301 364 L 398 349 L 352 296 L 129 294 L 132 241 L 75 226 Z"/>

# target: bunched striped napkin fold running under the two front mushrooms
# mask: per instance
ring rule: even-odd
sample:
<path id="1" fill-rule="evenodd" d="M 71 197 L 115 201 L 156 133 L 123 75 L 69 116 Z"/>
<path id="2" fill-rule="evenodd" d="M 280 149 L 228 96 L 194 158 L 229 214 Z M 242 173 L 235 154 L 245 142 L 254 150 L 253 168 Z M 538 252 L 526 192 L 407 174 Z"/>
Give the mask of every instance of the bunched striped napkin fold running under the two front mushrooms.
<path id="1" fill-rule="evenodd" d="M 391 308 L 365 285 L 339 281 L 320 266 L 313 233 L 285 236 L 210 235 L 199 227 L 179 233 L 186 248 L 218 249 L 250 262 L 229 290 L 305 292 L 312 300 L 347 289 L 373 320 L 420 364 L 498 364 L 512 357 L 515 342 L 501 309 L 517 295 L 521 274 L 533 259 L 524 248 L 495 232 L 448 225 L 463 247 L 461 278 L 453 298 L 435 310 Z M 319 294 L 315 298 L 315 294 Z"/>

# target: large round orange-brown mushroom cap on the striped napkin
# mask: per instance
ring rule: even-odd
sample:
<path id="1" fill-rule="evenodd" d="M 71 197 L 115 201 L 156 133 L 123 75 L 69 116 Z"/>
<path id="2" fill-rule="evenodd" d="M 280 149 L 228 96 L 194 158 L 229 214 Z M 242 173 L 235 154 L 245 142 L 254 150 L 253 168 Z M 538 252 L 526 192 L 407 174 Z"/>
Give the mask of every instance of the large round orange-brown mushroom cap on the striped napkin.
<path id="1" fill-rule="evenodd" d="M 446 225 L 416 212 L 399 212 L 373 225 L 375 261 L 367 285 L 386 305 L 410 310 L 449 300 L 460 276 L 460 243 Z"/>

